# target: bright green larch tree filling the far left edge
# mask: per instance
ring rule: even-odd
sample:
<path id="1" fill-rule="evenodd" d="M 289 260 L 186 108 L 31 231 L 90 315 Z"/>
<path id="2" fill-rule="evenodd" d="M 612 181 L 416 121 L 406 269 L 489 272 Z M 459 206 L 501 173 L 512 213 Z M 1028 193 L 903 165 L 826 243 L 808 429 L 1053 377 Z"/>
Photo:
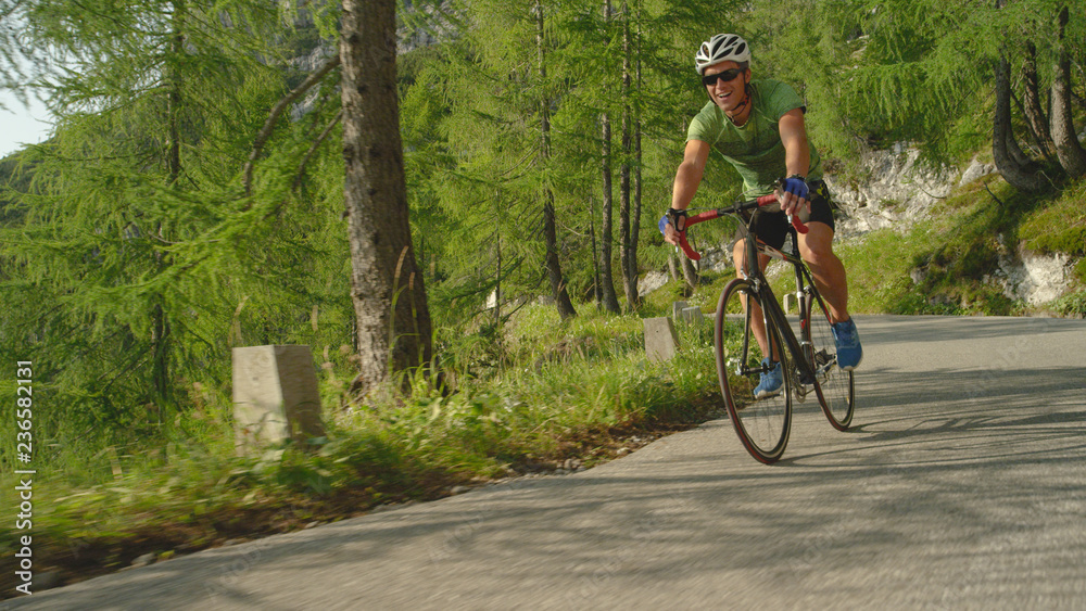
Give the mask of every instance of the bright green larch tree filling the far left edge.
<path id="1" fill-rule="evenodd" d="M 307 257 L 327 232 L 303 209 L 299 238 L 294 211 L 265 205 L 281 201 L 264 193 L 268 174 L 257 206 L 236 182 L 285 90 L 288 36 L 255 1 L 22 7 L 26 48 L 62 58 L 29 58 L 60 122 L 26 152 L 35 178 L 14 195 L 22 238 L 4 253 L 5 289 L 21 287 L 11 294 L 40 319 L 9 319 L 2 335 L 56 364 L 41 373 L 71 406 L 55 413 L 67 434 L 150 443 L 191 424 L 177 410 L 195 384 L 229 378 L 231 344 L 286 343 L 282 329 L 299 310 L 307 322 L 320 292 L 305 287 Z"/>

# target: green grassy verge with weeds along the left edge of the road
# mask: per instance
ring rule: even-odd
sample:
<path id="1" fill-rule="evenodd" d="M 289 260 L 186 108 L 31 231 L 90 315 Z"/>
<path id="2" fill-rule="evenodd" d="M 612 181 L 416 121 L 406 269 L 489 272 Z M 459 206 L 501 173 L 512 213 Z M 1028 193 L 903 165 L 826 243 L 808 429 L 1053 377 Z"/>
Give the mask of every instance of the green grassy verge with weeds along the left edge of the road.
<path id="1" fill-rule="evenodd" d="M 680 354 L 649 362 L 642 317 L 664 313 L 660 297 L 623 316 L 582 305 L 569 321 L 528 305 L 504 328 L 476 331 L 501 338 L 487 349 L 458 344 L 469 354 L 447 359 L 458 367 L 454 392 L 416 373 L 408 392 L 386 400 L 327 402 L 326 437 L 255 456 L 235 454 L 227 396 L 203 406 L 198 434 L 163 447 L 70 451 L 35 475 L 35 573 L 71 583 L 146 555 L 165 560 L 504 478 L 569 472 L 699 423 L 722 407 L 711 327 L 679 324 Z M 329 397 L 348 372 L 321 375 Z M 21 534 L 0 531 L 0 557 L 13 556 Z M 9 574 L 0 590 L 12 596 L 15 585 Z"/>

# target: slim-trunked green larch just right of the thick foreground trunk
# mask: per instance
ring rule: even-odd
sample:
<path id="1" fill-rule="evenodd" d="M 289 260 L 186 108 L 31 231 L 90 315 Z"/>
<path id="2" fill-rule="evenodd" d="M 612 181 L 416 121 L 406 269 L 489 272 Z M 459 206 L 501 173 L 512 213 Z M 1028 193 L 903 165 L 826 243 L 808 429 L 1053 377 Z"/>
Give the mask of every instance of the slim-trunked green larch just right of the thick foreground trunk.
<path id="1" fill-rule="evenodd" d="M 460 267 L 451 270 L 458 288 L 441 292 L 459 301 L 493 289 L 492 229 L 501 228 L 506 297 L 535 291 L 538 271 L 550 283 L 559 314 L 572 316 L 563 262 L 567 239 L 558 233 L 565 225 L 558 215 L 566 180 L 554 168 L 552 123 L 560 85 L 550 69 L 552 18 L 547 7 L 535 2 L 479 2 L 467 11 L 472 26 L 443 51 L 449 64 L 442 67 L 441 94 L 449 113 L 442 131 L 456 152 L 457 168 L 441 179 L 439 191 L 443 205 L 462 219 L 462 231 L 464 226 L 468 231 L 450 247 L 468 251 L 446 258 Z M 480 257 L 480 252 L 490 254 Z M 477 279 L 473 288 L 469 276 Z"/>

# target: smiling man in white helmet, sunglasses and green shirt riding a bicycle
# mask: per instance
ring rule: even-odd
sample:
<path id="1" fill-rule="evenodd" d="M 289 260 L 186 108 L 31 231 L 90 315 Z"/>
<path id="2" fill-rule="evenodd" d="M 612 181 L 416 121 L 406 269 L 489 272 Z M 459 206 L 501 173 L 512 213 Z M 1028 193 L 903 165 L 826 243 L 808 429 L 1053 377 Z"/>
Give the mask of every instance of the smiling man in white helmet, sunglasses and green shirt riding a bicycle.
<path id="1" fill-rule="evenodd" d="M 863 357 L 856 324 L 848 315 L 848 284 L 845 267 L 833 253 L 833 214 L 830 194 L 822 182 L 822 161 L 807 140 L 803 100 L 796 91 L 776 80 L 750 79 L 750 48 L 734 34 L 718 34 L 702 43 L 694 56 L 709 102 L 691 122 L 686 133 L 683 161 L 675 173 L 671 209 L 660 219 L 660 232 L 671 244 L 679 244 L 685 231 L 686 207 L 702 181 L 709 151 L 717 151 L 743 177 L 747 198 L 774 191 L 778 179 L 786 176 L 779 196 L 781 212 L 754 213 L 758 238 L 780 249 L 787 236 L 790 214 L 807 222 L 809 231 L 798 234 L 799 254 L 810 267 L 818 290 L 826 302 L 833 319 L 833 335 L 837 345 L 837 365 L 851 371 Z M 733 246 L 736 270 L 742 275 L 744 252 L 742 242 Z M 767 255 L 758 256 L 765 269 Z M 755 305 L 754 307 L 758 307 Z M 770 354 L 766 326 L 760 311 L 750 317 L 750 327 L 765 355 Z M 763 365 L 773 366 L 767 357 Z M 755 387 L 755 398 L 776 396 L 784 386 L 781 364 Z"/>

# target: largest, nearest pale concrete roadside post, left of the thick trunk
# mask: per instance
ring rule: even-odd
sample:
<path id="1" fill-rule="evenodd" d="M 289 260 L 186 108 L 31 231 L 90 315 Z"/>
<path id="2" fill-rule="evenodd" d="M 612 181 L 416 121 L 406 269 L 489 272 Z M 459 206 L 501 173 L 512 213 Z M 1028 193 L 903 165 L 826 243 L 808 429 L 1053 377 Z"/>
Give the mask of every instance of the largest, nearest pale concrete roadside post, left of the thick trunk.
<path id="1" fill-rule="evenodd" d="M 310 346 L 233 348 L 233 420 L 239 455 L 288 438 L 324 436 Z"/>

